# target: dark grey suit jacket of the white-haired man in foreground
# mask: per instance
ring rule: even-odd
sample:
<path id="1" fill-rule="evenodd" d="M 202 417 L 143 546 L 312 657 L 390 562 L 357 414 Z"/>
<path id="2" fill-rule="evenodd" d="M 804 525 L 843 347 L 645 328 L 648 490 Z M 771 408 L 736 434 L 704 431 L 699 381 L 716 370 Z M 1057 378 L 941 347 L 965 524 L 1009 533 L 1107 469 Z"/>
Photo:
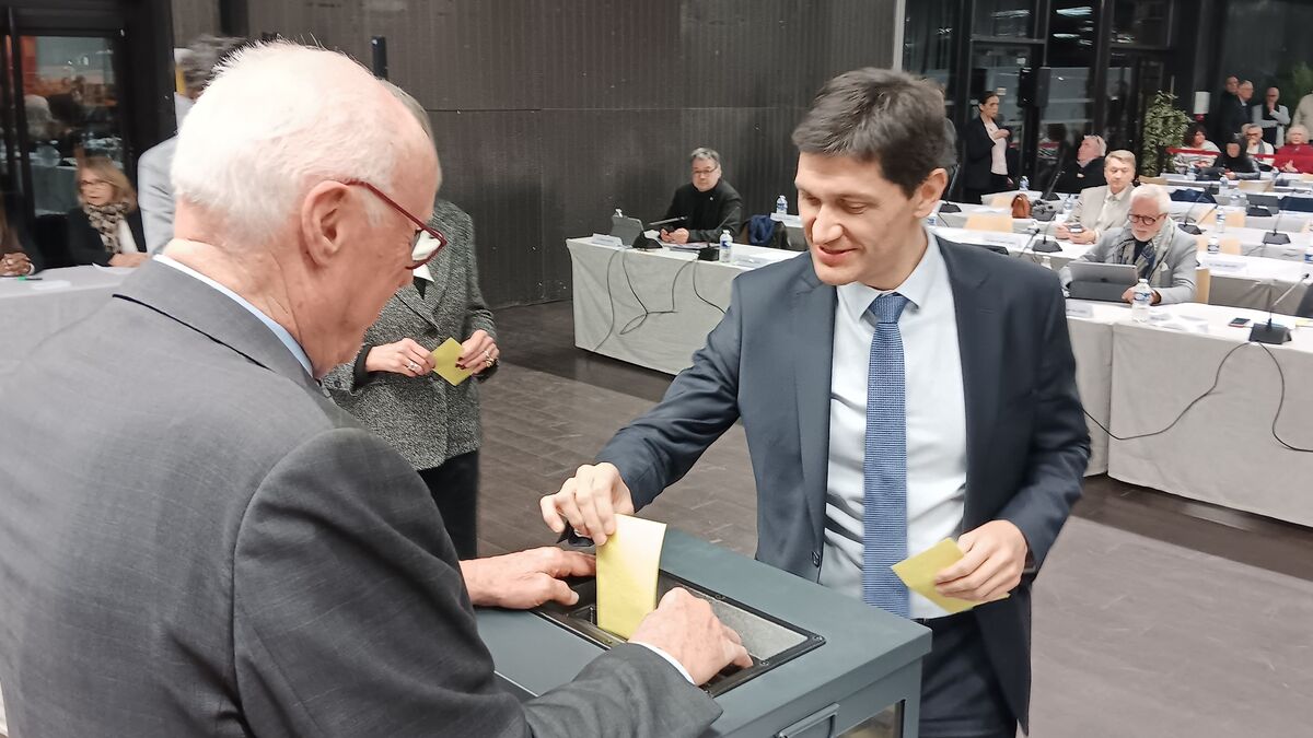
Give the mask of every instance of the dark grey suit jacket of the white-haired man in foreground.
<path id="1" fill-rule="evenodd" d="M 499 689 L 419 475 L 167 265 L 5 377 L 0 427 L 14 735 L 656 738 L 720 714 L 642 646 Z"/>

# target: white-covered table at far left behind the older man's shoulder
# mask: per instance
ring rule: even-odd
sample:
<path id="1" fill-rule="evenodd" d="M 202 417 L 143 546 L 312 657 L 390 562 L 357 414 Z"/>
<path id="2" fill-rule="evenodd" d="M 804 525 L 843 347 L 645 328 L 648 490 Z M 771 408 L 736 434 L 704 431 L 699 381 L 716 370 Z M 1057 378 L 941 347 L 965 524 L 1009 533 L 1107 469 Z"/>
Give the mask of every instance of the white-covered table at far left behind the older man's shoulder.
<path id="1" fill-rule="evenodd" d="M 37 281 L 0 278 L 0 377 L 60 328 L 95 314 L 130 269 L 66 267 Z"/>

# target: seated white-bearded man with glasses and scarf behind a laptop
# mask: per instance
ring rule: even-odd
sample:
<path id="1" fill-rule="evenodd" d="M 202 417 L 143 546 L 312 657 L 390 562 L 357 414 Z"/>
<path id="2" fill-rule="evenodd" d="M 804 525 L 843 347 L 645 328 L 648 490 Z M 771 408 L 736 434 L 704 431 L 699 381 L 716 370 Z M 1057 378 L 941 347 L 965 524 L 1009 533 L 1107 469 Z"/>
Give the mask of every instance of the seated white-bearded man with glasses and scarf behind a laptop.
<path id="1" fill-rule="evenodd" d="M 1128 227 L 1104 234 L 1081 261 L 1134 264 L 1138 278 L 1149 280 L 1153 305 L 1195 299 L 1195 269 L 1199 268 L 1195 236 L 1182 231 L 1167 215 L 1171 198 L 1159 185 L 1141 185 L 1130 193 Z M 1062 286 L 1071 284 L 1071 271 L 1060 273 Z M 1134 288 L 1121 299 L 1130 302 Z"/>

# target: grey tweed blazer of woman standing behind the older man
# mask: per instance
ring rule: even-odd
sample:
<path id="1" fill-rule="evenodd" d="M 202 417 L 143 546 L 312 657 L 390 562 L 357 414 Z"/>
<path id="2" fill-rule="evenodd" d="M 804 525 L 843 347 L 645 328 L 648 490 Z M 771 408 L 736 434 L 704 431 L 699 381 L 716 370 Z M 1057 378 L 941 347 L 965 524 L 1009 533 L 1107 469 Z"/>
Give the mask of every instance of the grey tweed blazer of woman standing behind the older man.
<path id="1" fill-rule="evenodd" d="M 435 281 L 425 285 L 423 295 L 414 285 L 402 288 L 365 332 L 356 362 L 336 366 L 324 377 L 334 402 L 382 436 L 415 469 L 433 469 L 448 458 L 478 450 L 478 385 L 496 370 L 487 369 L 478 381 L 466 380 L 454 387 L 437 374 L 364 372 L 370 348 L 404 337 L 435 349 L 448 337 L 461 343 L 482 328 L 496 340 L 492 311 L 479 292 L 474 222 L 445 200 L 433 204 L 429 222 L 448 239 L 429 263 Z"/>

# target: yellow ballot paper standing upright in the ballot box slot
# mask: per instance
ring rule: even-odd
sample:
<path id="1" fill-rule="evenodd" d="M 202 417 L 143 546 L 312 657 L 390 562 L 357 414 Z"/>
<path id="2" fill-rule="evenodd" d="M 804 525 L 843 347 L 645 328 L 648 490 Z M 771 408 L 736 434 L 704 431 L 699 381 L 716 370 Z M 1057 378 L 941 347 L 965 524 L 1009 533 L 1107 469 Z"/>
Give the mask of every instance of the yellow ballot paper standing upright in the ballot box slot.
<path id="1" fill-rule="evenodd" d="M 597 626 L 629 638 L 656 609 L 656 569 L 666 524 L 616 516 L 616 533 L 597 549 Z"/>

